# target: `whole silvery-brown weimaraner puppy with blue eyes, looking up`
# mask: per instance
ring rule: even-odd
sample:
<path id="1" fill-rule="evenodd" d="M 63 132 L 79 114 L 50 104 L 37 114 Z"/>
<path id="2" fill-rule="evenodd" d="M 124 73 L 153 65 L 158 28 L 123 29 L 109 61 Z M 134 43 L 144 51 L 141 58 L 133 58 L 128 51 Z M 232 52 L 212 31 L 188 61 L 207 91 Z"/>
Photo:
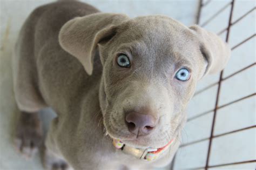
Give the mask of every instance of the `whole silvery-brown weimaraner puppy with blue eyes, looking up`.
<path id="1" fill-rule="evenodd" d="M 150 169 L 170 164 L 199 79 L 224 69 L 230 49 L 197 25 L 129 18 L 85 3 L 40 6 L 26 19 L 13 58 L 16 145 L 42 140 L 38 111 L 51 107 L 48 169 Z"/>

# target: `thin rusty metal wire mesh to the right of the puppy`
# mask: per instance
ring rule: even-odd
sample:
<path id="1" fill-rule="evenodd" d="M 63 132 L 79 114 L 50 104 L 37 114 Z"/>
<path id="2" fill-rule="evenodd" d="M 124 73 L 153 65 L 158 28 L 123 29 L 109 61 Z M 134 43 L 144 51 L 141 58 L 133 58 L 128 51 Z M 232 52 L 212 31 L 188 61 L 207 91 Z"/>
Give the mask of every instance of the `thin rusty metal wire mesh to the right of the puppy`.
<path id="1" fill-rule="evenodd" d="M 197 24 L 200 23 L 200 17 L 201 17 L 201 10 L 203 8 L 205 8 L 205 6 L 207 6 L 212 0 L 208 0 L 208 1 L 205 1 L 203 3 L 202 0 L 200 0 L 200 5 L 199 5 L 199 10 L 198 10 L 198 16 L 197 16 Z M 226 34 L 226 42 L 228 43 L 229 41 L 229 37 L 230 37 L 230 30 L 232 28 L 232 26 L 234 26 L 235 24 L 237 24 L 238 22 L 240 22 L 242 19 L 244 19 L 247 15 L 249 15 L 250 13 L 252 13 L 254 10 L 255 10 L 255 6 L 252 6 L 253 8 L 249 11 L 247 11 L 246 13 L 244 13 L 244 15 L 242 15 L 241 17 L 237 18 L 235 21 L 232 21 L 232 16 L 233 16 L 233 9 L 234 9 L 234 1 L 235 0 L 232 0 L 230 3 L 227 3 L 225 6 L 223 6 L 222 8 L 220 8 L 217 12 L 214 13 L 214 15 L 212 15 L 210 18 L 208 18 L 204 23 L 200 24 L 200 26 L 204 27 L 205 25 L 211 23 L 213 21 L 213 19 L 215 17 L 217 17 L 221 12 L 223 12 L 225 9 L 227 8 L 231 8 L 230 10 L 230 13 L 229 13 L 229 18 L 228 18 L 228 26 L 221 30 L 220 32 L 217 33 L 217 35 L 221 35 L 221 33 L 224 33 L 225 31 L 227 31 L 227 34 Z M 234 50 L 234 49 L 237 49 L 240 47 L 240 45 L 246 43 L 248 40 L 252 39 L 255 37 L 255 33 L 249 37 L 247 37 L 246 39 L 242 40 L 240 43 L 234 45 L 231 47 L 231 50 Z M 252 55 L 255 55 L 255 54 L 252 54 Z M 232 57 L 232 56 L 231 56 Z M 236 100 L 233 100 L 233 101 L 230 101 L 229 103 L 227 104 L 223 104 L 223 105 L 220 105 L 219 104 L 219 94 L 220 94 L 220 88 L 221 88 L 221 83 L 224 81 L 224 80 L 227 80 L 227 79 L 230 79 L 231 77 L 235 76 L 236 74 L 240 73 L 240 72 L 243 72 L 247 69 L 249 69 L 250 67 L 253 67 L 255 66 L 256 63 L 251 63 L 250 65 L 247 65 L 246 67 L 238 70 L 238 71 L 235 71 L 233 72 L 232 74 L 230 74 L 229 76 L 227 77 L 223 77 L 223 72 L 225 71 L 221 71 L 220 75 L 219 75 L 219 80 L 218 82 L 216 83 L 213 83 L 213 84 L 210 84 L 206 87 L 204 87 L 204 89 L 196 92 L 194 95 L 198 95 L 199 93 L 201 92 L 204 92 L 206 91 L 207 89 L 210 89 L 211 87 L 215 86 L 215 85 L 218 85 L 218 91 L 217 91 L 217 97 L 215 99 L 215 108 L 212 109 L 212 110 L 208 110 L 206 112 L 203 112 L 203 113 L 200 113 L 198 115 L 195 115 L 194 117 L 191 117 L 189 118 L 187 121 L 191 121 L 191 120 L 194 120 L 194 119 L 197 119 L 205 114 L 208 114 L 210 112 L 213 112 L 213 121 L 212 121 L 212 126 L 211 126 L 211 135 L 210 135 L 210 138 L 204 138 L 204 139 L 200 139 L 200 140 L 197 140 L 197 141 L 193 141 L 193 142 L 188 142 L 187 144 L 184 144 L 184 145 L 181 145 L 180 147 L 185 147 L 185 146 L 188 146 L 188 145 L 192 145 L 192 144 L 197 144 L 198 142 L 201 142 L 201 141 L 206 141 L 206 140 L 209 140 L 209 144 L 208 144 L 208 150 L 207 150 L 207 159 L 206 159 L 206 162 L 205 162 L 205 166 L 202 166 L 202 167 L 196 167 L 196 168 L 191 168 L 191 169 L 208 169 L 208 168 L 213 168 L 213 167 L 222 167 L 222 166 L 227 166 L 227 165 L 237 165 L 237 164 L 246 164 L 246 163 L 251 163 L 251 162 L 256 162 L 256 160 L 246 160 L 246 161 L 240 161 L 240 162 L 232 162 L 232 163 L 227 163 L 227 164 L 219 164 L 219 165 L 209 165 L 209 162 L 210 162 L 210 154 L 211 154 L 211 149 L 212 149 L 212 140 L 214 138 L 217 138 L 217 137 L 222 137 L 224 135 L 227 135 L 227 134 L 231 134 L 231 133 L 237 133 L 237 132 L 241 132 L 241 131 L 245 131 L 245 130 L 248 130 L 248 129 L 251 129 L 251 128 L 255 128 L 256 125 L 253 125 L 253 126 L 248 126 L 248 127 L 244 127 L 244 128 L 240 128 L 238 130 L 234 130 L 234 131 L 230 131 L 230 132 L 226 132 L 226 133 L 221 133 L 221 134 L 218 134 L 218 135 L 214 135 L 214 125 L 215 125 L 215 119 L 216 119 L 216 114 L 217 114 L 217 111 L 220 109 L 220 108 L 223 108 L 223 107 L 226 107 L 226 106 L 229 106 L 229 105 L 235 105 L 236 103 L 238 103 L 239 101 L 241 100 L 244 100 L 244 99 L 247 99 L 247 98 L 251 98 L 253 96 L 256 95 L 256 93 L 252 93 L 250 95 L 247 95 L 247 96 L 244 96 L 242 98 L 239 98 L 239 99 L 236 99 Z M 255 76 L 255 75 L 254 75 Z M 253 149 L 253 148 L 252 148 Z M 175 158 L 174 158 L 175 159 Z M 173 165 L 172 165 L 172 168 L 173 169 L 173 166 L 174 166 L 174 160 L 173 160 Z M 185 162 L 184 162 L 185 163 Z"/>

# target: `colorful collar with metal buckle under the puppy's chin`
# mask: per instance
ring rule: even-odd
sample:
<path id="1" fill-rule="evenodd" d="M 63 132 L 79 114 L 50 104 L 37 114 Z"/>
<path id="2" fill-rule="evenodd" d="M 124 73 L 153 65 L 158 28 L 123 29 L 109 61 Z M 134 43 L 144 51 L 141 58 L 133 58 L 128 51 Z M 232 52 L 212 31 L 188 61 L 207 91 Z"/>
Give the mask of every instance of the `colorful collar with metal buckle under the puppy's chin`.
<path id="1" fill-rule="evenodd" d="M 147 149 L 138 149 L 125 145 L 119 139 L 113 139 L 113 145 L 117 149 L 122 149 L 123 152 L 133 155 L 134 157 L 142 160 L 151 161 L 157 159 L 161 153 L 166 151 L 167 148 L 171 146 L 173 139 L 164 147 L 161 148 L 147 148 Z"/>

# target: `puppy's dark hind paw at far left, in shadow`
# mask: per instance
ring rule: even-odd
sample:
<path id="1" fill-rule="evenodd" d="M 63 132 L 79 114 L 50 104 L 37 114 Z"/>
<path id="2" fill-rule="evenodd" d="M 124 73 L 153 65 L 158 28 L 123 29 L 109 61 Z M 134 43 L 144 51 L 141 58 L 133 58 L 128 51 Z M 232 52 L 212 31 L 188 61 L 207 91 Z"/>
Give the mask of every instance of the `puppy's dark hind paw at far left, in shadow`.
<path id="1" fill-rule="evenodd" d="M 15 134 L 15 147 L 25 158 L 31 158 L 42 144 L 43 132 L 38 113 L 22 112 Z"/>

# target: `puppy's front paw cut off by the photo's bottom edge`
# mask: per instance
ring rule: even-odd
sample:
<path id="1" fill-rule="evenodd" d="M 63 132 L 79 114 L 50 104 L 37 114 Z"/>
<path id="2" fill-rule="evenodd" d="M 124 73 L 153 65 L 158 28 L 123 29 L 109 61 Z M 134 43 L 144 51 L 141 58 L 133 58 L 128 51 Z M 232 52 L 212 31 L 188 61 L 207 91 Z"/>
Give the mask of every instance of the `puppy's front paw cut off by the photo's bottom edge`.
<path id="1" fill-rule="evenodd" d="M 46 147 L 44 147 L 44 158 L 43 164 L 46 169 L 49 170 L 68 170 L 72 169 L 68 162 L 66 162 L 63 158 L 58 157 L 56 154 L 49 151 Z"/>

